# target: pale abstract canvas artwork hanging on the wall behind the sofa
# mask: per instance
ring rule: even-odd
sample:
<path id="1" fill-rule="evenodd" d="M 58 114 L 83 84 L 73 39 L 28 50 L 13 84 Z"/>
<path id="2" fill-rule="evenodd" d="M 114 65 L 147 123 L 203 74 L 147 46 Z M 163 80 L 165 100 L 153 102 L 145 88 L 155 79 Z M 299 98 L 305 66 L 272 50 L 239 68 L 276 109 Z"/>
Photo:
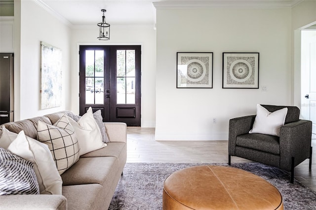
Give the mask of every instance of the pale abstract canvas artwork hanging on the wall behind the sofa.
<path id="1" fill-rule="evenodd" d="M 40 42 L 40 109 L 61 105 L 62 51 Z"/>

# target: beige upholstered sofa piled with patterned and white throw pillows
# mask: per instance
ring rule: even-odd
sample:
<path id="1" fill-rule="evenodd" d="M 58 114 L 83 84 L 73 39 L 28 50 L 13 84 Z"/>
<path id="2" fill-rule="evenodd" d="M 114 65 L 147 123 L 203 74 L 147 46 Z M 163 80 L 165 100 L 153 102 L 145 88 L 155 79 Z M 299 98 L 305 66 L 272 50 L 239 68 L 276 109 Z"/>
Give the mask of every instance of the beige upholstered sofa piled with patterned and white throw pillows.
<path id="1" fill-rule="evenodd" d="M 63 112 L 4 124 L 14 133 L 37 139 L 37 123 L 54 124 Z M 79 161 L 64 172 L 62 195 L 5 195 L 0 209 L 14 210 L 107 210 L 126 163 L 126 124 L 104 123 L 110 142 L 80 156 Z M 0 136 L 2 131 L 0 130 Z"/>

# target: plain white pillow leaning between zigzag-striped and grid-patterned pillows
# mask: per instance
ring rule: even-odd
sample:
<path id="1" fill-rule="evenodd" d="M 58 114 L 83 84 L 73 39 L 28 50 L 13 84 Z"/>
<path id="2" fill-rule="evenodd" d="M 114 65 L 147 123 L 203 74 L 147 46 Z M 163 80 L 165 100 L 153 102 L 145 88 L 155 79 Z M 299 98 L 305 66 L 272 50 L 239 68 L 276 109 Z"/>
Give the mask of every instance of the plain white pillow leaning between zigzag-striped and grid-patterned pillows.
<path id="1" fill-rule="evenodd" d="M 40 194 L 61 195 L 63 181 L 56 169 L 48 146 L 25 136 L 24 131 L 15 134 L 2 128 L 3 130 L 11 137 L 16 135 L 7 150 L 34 164 Z"/>

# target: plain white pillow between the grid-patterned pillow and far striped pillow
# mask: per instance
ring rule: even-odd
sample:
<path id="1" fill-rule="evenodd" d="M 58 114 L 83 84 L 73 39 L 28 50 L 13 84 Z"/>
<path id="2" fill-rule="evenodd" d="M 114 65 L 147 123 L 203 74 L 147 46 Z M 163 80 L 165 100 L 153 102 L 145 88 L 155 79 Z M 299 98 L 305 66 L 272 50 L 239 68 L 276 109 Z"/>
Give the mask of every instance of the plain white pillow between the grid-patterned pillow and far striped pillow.
<path id="1" fill-rule="evenodd" d="M 78 138 L 80 151 L 79 154 L 83 155 L 85 153 L 101 149 L 107 144 L 103 143 L 102 139 L 96 135 L 97 132 L 96 129 L 85 129 L 84 127 L 81 127 L 75 120 L 68 117 L 69 122 L 75 129 L 75 134 Z M 81 124 L 84 123 L 85 120 L 81 121 Z"/>

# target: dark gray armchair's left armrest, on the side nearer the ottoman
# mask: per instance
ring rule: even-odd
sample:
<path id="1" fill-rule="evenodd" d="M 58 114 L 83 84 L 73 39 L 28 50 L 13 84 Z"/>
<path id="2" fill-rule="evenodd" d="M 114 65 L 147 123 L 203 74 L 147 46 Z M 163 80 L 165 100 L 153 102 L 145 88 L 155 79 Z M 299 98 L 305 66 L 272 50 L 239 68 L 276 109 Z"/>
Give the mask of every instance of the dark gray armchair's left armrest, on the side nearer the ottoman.
<path id="1" fill-rule="evenodd" d="M 228 154 L 235 155 L 236 137 L 247 134 L 251 129 L 256 115 L 249 115 L 230 119 L 228 133 Z"/>

